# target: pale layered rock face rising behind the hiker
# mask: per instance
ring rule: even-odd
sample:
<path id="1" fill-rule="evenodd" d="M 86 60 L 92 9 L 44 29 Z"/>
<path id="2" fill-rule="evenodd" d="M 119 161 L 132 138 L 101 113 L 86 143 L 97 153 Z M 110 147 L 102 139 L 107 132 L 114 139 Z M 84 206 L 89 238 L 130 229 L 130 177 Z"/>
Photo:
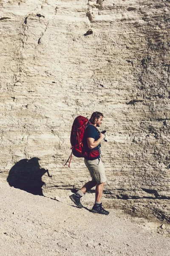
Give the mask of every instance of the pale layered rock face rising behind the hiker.
<path id="1" fill-rule="evenodd" d="M 33 193 L 52 198 L 81 187 L 89 179 L 83 160 L 63 166 L 71 125 L 100 111 L 109 136 L 105 198 L 130 211 L 136 204 L 141 214 L 152 202 L 150 212 L 169 221 L 169 1 L 1 0 L 0 7 L 0 180 L 31 183 L 39 186 Z"/>

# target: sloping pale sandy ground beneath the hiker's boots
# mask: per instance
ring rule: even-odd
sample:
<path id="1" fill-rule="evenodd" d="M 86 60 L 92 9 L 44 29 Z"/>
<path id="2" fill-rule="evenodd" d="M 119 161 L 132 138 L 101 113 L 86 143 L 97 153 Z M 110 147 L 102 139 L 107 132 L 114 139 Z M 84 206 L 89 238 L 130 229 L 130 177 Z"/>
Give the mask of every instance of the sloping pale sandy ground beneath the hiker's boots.
<path id="1" fill-rule="evenodd" d="M 169 256 L 170 226 L 160 225 L 121 210 L 94 214 L 0 183 L 0 256 Z"/>

